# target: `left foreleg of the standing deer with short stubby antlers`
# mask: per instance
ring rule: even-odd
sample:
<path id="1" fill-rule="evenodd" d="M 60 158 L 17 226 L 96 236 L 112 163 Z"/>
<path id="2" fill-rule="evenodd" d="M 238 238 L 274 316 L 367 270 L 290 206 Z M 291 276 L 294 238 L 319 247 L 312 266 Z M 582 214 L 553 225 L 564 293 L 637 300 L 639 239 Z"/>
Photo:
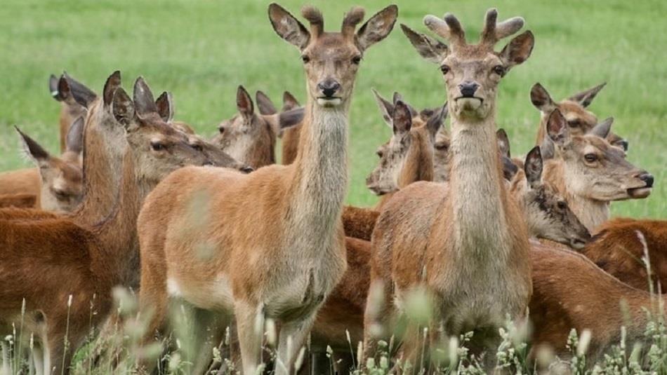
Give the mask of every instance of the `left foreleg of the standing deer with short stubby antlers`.
<path id="1" fill-rule="evenodd" d="M 239 347 L 243 374 L 253 375 L 257 371 L 262 355 L 262 338 L 264 336 L 264 306 L 238 301 L 234 304 Z"/>

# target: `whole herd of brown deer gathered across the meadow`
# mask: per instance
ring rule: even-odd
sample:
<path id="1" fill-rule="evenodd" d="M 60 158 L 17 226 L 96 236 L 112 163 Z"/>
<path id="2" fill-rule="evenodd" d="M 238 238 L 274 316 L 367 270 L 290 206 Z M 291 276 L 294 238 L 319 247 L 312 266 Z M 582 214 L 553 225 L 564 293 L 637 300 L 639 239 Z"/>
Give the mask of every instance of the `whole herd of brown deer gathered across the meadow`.
<path id="1" fill-rule="evenodd" d="M 589 329 L 590 362 L 621 326 L 641 339 L 642 308 L 655 305 L 649 289 L 667 286 L 667 223 L 609 220 L 610 202 L 649 196 L 653 177 L 626 161 L 612 118 L 598 123 L 586 109 L 604 84 L 561 102 L 533 86 L 538 145 L 512 158 L 496 130 L 497 86 L 531 55 L 534 36 L 494 46 L 523 19 L 497 22 L 488 11 L 477 44 L 449 13 L 424 18 L 448 44 L 401 25 L 440 66 L 447 102 L 417 111 L 374 92 L 392 128 L 366 182 L 382 199 L 373 209 L 343 207 L 355 76 L 398 9 L 357 29 L 364 11 L 352 8 L 340 32 L 325 32 L 310 6 L 302 10 L 310 30 L 277 4 L 268 13 L 301 53 L 305 107 L 285 93 L 277 111 L 258 92 L 256 111 L 239 87 L 239 113 L 206 141 L 173 120 L 169 93 L 154 100 L 141 78 L 129 97 L 118 71 L 102 95 L 63 74 L 50 81 L 62 105 L 62 156 L 17 129 L 37 168 L 0 174 L 0 327 L 34 334 L 38 373 L 67 371 L 91 320 L 109 318 L 117 285 L 139 290 L 145 342 L 165 333 L 170 301 L 197 311 L 202 344 L 235 322 L 244 374 L 263 360 L 265 319 L 279 325 L 277 374 L 296 370 L 307 341 L 315 353 L 331 346 L 343 363 L 355 355 L 350 341 L 374 357 L 415 290 L 432 307 L 428 337 L 407 332 L 392 353 L 413 363 L 441 337 L 469 331 L 475 353 L 494 349 L 507 317 L 529 318 L 534 348 L 561 357 L 570 329 Z M 201 372 L 211 350 L 196 353 Z M 482 357 L 492 369 L 494 356 Z"/>

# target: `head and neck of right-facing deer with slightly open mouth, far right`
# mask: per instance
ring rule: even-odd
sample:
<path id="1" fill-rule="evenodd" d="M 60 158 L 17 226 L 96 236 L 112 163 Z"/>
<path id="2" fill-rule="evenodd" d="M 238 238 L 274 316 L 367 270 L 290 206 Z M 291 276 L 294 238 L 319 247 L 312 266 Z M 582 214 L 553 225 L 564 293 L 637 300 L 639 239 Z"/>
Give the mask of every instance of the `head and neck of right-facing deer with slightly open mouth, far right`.
<path id="1" fill-rule="evenodd" d="M 543 179 L 560 191 L 590 232 L 609 219 L 609 203 L 646 198 L 653 187 L 653 175 L 607 141 L 612 122 L 607 118 L 585 135 L 572 135 L 567 119 L 554 109 L 545 124 L 555 157 L 545 162 Z"/>

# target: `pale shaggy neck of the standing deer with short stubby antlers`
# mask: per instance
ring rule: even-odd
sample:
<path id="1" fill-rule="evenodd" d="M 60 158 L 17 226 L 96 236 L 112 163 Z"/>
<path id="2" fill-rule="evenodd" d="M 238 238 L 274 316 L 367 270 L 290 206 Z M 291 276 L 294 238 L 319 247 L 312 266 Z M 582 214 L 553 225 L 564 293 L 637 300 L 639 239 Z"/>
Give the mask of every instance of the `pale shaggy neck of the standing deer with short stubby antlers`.
<path id="1" fill-rule="evenodd" d="M 286 200 L 296 236 L 318 233 L 323 241 L 334 236 L 348 186 L 347 137 L 347 105 L 323 108 L 309 100 Z"/>

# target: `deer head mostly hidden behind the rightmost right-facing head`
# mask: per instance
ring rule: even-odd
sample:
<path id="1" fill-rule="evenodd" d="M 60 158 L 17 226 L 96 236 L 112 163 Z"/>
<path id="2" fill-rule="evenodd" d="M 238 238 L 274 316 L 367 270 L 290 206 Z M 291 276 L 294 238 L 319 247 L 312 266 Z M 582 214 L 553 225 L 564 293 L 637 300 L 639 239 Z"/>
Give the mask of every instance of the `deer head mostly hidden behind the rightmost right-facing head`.
<path id="1" fill-rule="evenodd" d="M 584 135 L 591 129 L 595 128 L 595 125 L 597 125 L 597 117 L 586 108 L 593 102 L 597 93 L 599 93 L 606 85 L 607 83 L 602 83 L 594 88 L 572 95 L 565 100 L 555 102 L 551 99 L 551 95 L 549 95 L 546 88 L 540 83 L 535 83 L 530 90 L 530 101 L 541 113 L 540 125 L 535 139 L 536 144 L 540 145 L 544 141 L 544 136 L 546 135 L 546 121 L 554 109 L 558 109 L 567 119 L 567 127 L 572 135 Z M 609 133 L 607 140 L 614 146 L 623 149 L 623 151 L 628 151 L 628 141 L 618 135 Z"/>

